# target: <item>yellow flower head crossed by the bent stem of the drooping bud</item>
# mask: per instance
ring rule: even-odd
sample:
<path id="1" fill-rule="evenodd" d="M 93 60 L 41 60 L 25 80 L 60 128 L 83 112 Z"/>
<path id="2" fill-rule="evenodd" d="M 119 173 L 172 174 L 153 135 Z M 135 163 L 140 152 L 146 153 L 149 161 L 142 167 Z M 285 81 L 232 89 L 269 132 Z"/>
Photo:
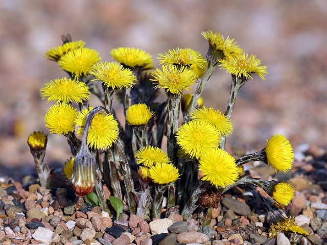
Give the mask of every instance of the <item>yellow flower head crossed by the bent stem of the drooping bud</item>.
<path id="1" fill-rule="evenodd" d="M 83 134 L 87 114 L 92 108 L 78 113 L 75 123 L 79 128 L 77 134 Z M 96 114 L 88 130 L 87 144 L 90 148 L 105 150 L 117 140 L 119 135 L 118 122 L 111 114 Z"/>

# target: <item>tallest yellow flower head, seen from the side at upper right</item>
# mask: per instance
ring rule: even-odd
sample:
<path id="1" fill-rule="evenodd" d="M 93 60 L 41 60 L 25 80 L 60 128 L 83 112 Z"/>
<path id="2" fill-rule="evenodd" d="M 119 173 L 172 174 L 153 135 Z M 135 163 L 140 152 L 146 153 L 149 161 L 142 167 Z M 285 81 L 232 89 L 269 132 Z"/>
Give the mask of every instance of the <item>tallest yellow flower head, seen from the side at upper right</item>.
<path id="1" fill-rule="evenodd" d="M 218 59 L 229 59 L 243 52 L 237 42 L 234 42 L 234 39 L 229 37 L 225 39 L 218 32 L 207 31 L 202 32 L 201 35 L 209 42 L 209 51 L 212 49 L 212 52 L 217 52 L 218 57 L 216 58 Z"/>

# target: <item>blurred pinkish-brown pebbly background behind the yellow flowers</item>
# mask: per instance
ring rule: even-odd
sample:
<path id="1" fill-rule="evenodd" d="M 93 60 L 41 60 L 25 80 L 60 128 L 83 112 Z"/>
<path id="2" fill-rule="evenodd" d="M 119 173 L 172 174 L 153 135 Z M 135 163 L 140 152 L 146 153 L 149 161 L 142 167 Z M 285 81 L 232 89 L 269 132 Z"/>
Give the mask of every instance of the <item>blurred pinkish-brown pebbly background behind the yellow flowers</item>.
<path id="1" fill-rule="evenodd" d="M 202 31 L 235 38 L 268 67 L 266 81 L 253 76 L 240 90 L 227 145 L 260 150 L 276 132 L 294 150 L 327 145 L 327 4 L 325 0 L 2 0 L 0 1 L 0 176 L 34 172 L 27 137 L 48 130 L 43 116 L 52 105 L 39 89 L 65 76 L 44 53 L 61 35 L 84 40 L 102 61 L 119 46 L 153 56 L 193 48 L 205 57 Z M 225 111 L 230 75 L 217 69 L 202 96 L 204 105 Z M 161 97 L 165 99 L 165 95 Z M 94 106 L 99 102 L 94 101 Z M 71 157 L 64 136 L 48 135 L 45 162 L 62 166 Z"/>

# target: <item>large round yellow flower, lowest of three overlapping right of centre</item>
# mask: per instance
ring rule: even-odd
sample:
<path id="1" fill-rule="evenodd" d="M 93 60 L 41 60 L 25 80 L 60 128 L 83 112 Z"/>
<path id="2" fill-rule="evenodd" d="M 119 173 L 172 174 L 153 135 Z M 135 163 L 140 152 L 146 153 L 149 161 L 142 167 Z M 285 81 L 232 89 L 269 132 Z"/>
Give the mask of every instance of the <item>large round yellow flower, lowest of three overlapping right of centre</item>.
<path id="1" fill-rule="evenodd" d="M 235 159 L 221 149 L 208 149 L 199 160 L 202 180 L 209 181 L 216 188 L 235 183 L 239 177 L 239 169 Z"/>

